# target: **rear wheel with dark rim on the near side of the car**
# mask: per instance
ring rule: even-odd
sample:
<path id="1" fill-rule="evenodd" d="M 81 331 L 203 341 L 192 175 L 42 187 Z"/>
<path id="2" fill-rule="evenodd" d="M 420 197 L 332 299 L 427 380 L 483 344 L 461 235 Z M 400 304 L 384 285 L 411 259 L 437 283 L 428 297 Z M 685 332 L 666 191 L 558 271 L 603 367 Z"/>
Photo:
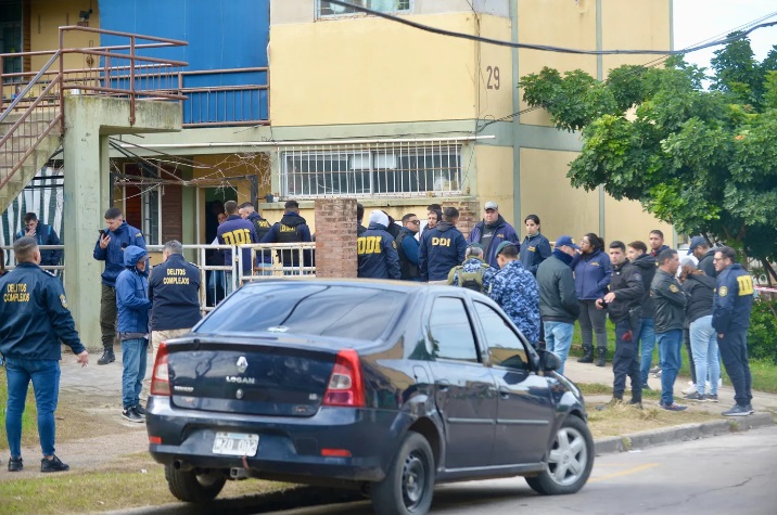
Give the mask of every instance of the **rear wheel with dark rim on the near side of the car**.
<path id="1" fill-rule="evenodd" d="M 419 515 L 429 512 L 434 493 L 434 456 L 429 442 L 408 433 L 382 481 L 372 485 L 378 515 Z"/>

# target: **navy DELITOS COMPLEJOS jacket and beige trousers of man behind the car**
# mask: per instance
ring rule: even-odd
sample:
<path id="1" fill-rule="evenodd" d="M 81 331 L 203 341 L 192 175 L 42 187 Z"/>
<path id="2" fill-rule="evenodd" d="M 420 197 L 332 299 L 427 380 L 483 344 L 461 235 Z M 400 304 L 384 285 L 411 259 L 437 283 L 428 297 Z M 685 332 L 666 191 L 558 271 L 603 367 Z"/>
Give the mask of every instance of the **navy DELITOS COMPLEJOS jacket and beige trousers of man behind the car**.
<path id="1" fill-rule="evenodd" d="M 160 344 L 188 333 L 202 318 L 200 313 L 200 269 L 181 254 L 170 254 L 149 276 L 151 345 L 153 358 Z"/>

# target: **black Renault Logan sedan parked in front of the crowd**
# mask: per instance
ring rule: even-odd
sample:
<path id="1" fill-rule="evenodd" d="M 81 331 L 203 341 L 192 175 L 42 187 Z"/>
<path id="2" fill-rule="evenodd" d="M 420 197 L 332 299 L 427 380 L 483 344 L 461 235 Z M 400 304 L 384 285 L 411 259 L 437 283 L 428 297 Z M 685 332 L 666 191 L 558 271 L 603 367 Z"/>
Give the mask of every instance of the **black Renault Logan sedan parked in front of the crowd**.
<path id="1" fill-rule="evenodd" d="M 162 344 L 150 451 L 189 502 L 244 478 L 359 488 L 379 514 L 426 513 L 435 484 L 479 478 L 574 493 L 594 441 L 558 366 L 467 288 L 262 281 Z"/>

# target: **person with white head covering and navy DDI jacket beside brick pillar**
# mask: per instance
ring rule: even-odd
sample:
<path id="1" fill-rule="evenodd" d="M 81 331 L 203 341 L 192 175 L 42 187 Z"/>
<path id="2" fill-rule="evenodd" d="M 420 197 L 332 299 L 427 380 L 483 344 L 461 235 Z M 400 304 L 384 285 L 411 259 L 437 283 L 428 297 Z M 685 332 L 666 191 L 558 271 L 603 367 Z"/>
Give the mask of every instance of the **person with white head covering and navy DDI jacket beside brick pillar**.
<path id="1" fill-rule="evenodd" d="M 389 216 L 375 209 L 370 214 L 367 231 L 356 240 L 359 278 L 399 279 L 399 255 L 394 237 L 386 231 L 389 223 Z"/>

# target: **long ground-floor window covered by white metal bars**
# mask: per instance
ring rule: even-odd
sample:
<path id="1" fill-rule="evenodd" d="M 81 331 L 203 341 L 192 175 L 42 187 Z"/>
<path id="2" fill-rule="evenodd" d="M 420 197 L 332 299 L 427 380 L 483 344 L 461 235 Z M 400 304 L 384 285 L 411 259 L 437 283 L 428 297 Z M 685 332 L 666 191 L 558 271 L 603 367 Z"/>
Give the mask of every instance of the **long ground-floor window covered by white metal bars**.
<path id="1" fill-rule="evenodd" d="M 284 196 L 422 196 L 461 192 L 461 146 L 282 153 Z"/>

